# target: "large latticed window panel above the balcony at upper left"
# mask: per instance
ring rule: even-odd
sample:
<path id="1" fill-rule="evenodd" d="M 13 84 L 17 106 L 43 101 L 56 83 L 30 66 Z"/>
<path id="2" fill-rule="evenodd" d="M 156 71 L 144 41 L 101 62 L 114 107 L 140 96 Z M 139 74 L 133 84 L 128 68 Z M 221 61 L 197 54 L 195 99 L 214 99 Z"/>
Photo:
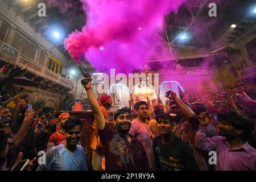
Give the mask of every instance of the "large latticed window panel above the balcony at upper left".
<path id="1" fill-rule="evenodd" d="M 22 56 L 25 56 L 32 61 L 35 61 L 38 47 L 30 40 L 25 38 L 23 35 L 21 35 L 19 32 L 15 32 L 11 46 L 18 50 L 21 48 Z"/>

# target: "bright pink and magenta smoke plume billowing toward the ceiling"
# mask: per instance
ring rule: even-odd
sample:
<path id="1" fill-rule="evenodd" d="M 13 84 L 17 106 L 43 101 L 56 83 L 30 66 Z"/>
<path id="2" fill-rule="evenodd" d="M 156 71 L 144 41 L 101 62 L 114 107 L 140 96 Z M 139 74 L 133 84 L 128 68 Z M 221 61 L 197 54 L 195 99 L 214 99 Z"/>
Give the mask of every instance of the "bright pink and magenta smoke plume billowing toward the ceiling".
<path id="1" fill-rule="evenodd" d="M 155 32 L 163 30 L 164 16 L 177 13 L 184 0 L 80 0 L 86 6 L 86 25 L 64 41 L 77 62 L 81 57 L 96 69 L 129 73 L 141 69 L 152 56 Z M 160 39 L 158 40 L 160 41 Z"/>

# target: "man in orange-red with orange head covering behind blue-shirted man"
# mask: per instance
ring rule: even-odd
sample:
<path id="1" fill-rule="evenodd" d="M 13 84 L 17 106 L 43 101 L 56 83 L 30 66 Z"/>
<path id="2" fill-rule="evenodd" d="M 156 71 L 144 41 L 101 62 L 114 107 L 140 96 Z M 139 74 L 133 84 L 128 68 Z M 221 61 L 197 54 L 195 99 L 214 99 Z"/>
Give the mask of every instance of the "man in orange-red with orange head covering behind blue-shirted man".
<path id="1" fill-rule="evenodd" d="M 53 146 L 57 146 L 59 144 L 63 144 L 65 142 L 65 132 L 64 132 L 64 124 L 65 121 L 69 118 L 69 113 L 61 113 L 59 115 L 59 129 L 51 135 L 47 143 L 46 151 L 50 150 Z"/>

